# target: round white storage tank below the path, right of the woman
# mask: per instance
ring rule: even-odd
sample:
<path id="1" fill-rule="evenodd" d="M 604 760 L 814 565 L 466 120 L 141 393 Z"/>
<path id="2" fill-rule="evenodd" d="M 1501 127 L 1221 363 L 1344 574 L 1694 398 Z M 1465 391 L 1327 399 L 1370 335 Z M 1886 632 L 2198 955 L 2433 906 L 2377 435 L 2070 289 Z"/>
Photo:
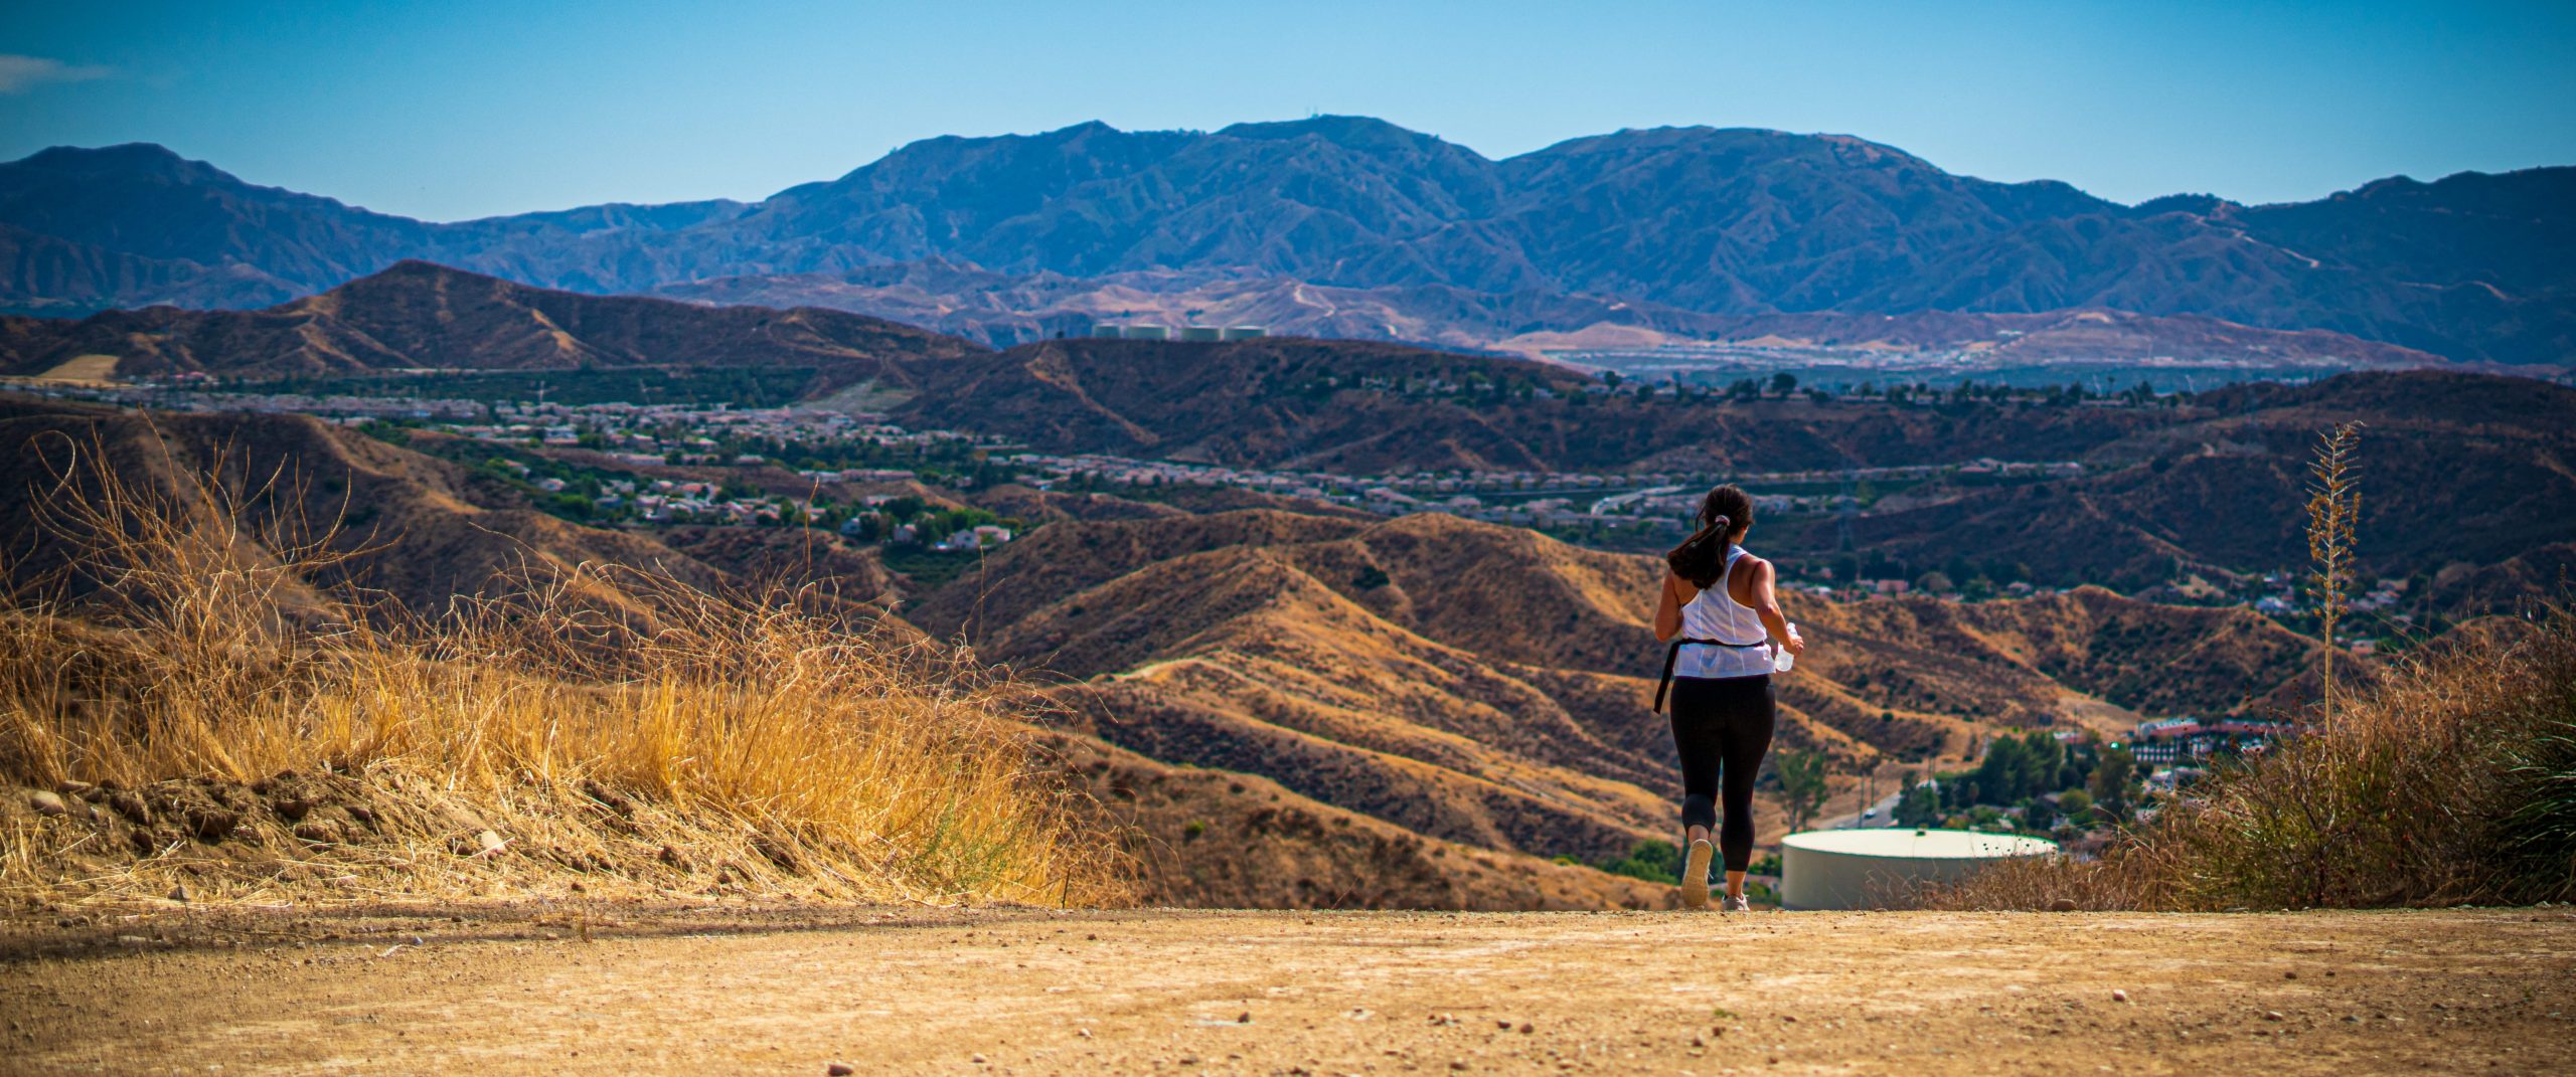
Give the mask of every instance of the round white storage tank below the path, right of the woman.
<path id="1" fill-rule="evenodd" d="M 1780 907 L 1883 907 L 1914 884 L 1947 884 L 1996 861 L 2056 850 L 2045 837 L 1973 830 L 1808 830 L 1780 840 Z"/>

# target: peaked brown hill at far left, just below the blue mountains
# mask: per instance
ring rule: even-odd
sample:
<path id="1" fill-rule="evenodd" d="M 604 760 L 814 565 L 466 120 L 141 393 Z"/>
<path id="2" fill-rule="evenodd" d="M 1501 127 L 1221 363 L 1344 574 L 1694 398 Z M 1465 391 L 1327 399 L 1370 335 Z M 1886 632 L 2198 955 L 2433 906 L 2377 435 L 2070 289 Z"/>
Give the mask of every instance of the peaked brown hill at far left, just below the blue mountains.
<path id="1" fill-rule="evenodd" d="M 399 368 L 781 366 L 824 381 L 899 379 L 904 358 L 956 358 L 963 340 L 827 309 L 693 307 L 531 289 L 399 263 L 319 296 L 255 312 L 149 307 L 80 322 L 15 319 L 0 371 L 116 356 L 116 374 L 325 374 Z"/>

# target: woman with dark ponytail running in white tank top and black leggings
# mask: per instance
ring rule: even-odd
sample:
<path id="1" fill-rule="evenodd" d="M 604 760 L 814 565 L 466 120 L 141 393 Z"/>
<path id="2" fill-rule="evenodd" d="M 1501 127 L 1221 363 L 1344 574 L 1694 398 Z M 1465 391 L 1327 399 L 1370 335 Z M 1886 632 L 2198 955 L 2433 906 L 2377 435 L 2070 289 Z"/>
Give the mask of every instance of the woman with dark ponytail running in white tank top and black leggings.
<path id="1" fill-rule="evenodd" d="M 1664 554 L 1664 598 L 1654 605 L 1654 639 L 1669 642 L 1656 711 L 1672 691 L 1672 745 L 1682 752 L 1682 904 L 1708 907 L 1708 830 L 1726 855 L 1726 912 L 1749 912 L 1744 868 L 1754 855 L 1754 778 L 1770 752 L 1772 649 L 1806 654 L 1780 618 L 1770 562 L 1744 551 L 1754 500 L 1734 484 L 1700 500 L 1700 531 Z M 1718 801 L 1726 822 L 1718 822 Z"/>

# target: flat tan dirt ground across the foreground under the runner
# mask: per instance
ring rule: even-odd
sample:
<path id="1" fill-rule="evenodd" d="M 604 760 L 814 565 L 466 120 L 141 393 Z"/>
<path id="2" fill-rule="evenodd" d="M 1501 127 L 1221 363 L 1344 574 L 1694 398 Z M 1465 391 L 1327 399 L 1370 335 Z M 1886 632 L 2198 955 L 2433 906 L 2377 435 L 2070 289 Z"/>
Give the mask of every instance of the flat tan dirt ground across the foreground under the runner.
<path id="1" fill-rule="evenodd" d="M 0 956 L 23 1074 L 2576 1072 L 2566 907 L 165 910 Z"/>

